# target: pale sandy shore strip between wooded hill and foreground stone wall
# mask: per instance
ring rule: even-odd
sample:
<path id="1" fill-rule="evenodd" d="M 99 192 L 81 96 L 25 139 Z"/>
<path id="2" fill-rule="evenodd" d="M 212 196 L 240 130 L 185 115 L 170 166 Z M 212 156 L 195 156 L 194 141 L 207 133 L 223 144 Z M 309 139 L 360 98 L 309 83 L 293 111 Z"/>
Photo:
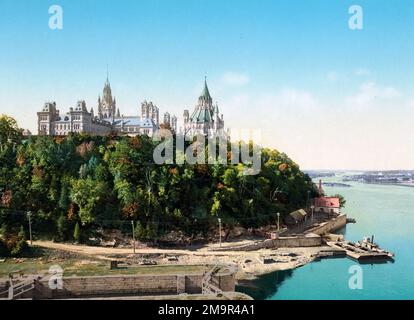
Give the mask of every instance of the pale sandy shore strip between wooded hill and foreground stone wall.
<path id="1" fill-rule="evenodd" d="M 238 242 L 225 243 L 226 246 L 246 245 L 254 243 L 255 240 L 242 240 Z M 88 274 L 104 274 L 110 272 L 109 261 L 119 261 L 127 267 L 120 272 L 140 272 L 140 268 L 145 268 L 145 272 L 154 271 L 158 273 L 164 269 L 181 270 L 183 272 L 191 272 L 194 266 L 205 266 L 206 269 L 210 265 L 229 265 L 234 268 L 237 280 L 250 280 L 257 276 L 271 273 L 279 270 L 295 269 L 307 263 L 314 261 L 321 251 L 329 249 L 325 246 L 306 247 L 306 248 L 278 248 L 278 249 L 262 249 L 258 251 L 213 251 L 217 248 L 217 244 L 206 245 L 202 248 L 189 249 L 157 249 L 157 248 L 139 248 L 135 254 L 132 248 L 105 248 L 92 247 L 83 245 L 73 245 L 65 243 L 54 243 L 51 241 L 35 241 L 34 247 L 53 250 L 59 252 L 60 256 L 54 256 L 42 260 L 42 258 L 34 258 L 33 262 L 38 265 L 33 267 L 38 269 L 38 273 L 47 273 L 50 264 L 60 264 L 64 272 L 70 275 Z M 69 264 L 70 259 L 65 258 L 64 254 L 70 254 L 74 265 Z M 40 259 L 40 260 L 39 260 Z M 19 271 L 26 274 L 22 261 L 30 265 L 31 258 L 26 259 L 9 259 L 0 263 L 0 278 L 7 277 L 9 271 Z M 265 262 L 266 261 L 266 262 Z M 10 268 L 5 268 L 6 264 Z M 11 264 L 11 265 L 9 265 Z M 15 264 L 15 265 L 14 265 Z M 153 264 L 153 265 L 146 265 Z M 134 267 L 135 266 L 135 267 Z M 139 266 L 139 267 L 137 267 Z M 129 269 L 129 270 L 128 270 Z M 33 270 L 33 269 L 32 269 Z M 111 273 L 116 272 L 113 270 Z"/>

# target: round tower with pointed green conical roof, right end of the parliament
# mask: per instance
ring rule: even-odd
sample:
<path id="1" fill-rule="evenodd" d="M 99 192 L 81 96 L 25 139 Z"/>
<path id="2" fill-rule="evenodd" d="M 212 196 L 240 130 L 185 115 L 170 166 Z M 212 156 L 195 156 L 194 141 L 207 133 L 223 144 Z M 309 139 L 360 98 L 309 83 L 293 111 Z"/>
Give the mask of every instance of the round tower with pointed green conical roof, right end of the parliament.
<path id="1" fill-rule="evenodd" d="M 206 78 L 193 113 L 190 115 L 188 110 L 184 110 L 184 131 L 186 135 L 210 136 L 219 135 L 223 130 L 224 119 L 219 114 L 218 105 L 213 104 Z"/>

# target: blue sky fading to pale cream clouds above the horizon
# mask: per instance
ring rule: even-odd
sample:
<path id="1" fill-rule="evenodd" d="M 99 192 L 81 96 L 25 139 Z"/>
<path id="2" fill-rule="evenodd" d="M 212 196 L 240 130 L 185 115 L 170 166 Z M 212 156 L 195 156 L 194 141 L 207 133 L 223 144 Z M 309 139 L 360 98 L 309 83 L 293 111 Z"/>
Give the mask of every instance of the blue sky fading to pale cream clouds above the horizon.
<path id="1" fill-rule="evenodd" d="M 407 0 L 0 0 L 0 114 L 36 133 L 46 101 L 96 109 L 109 66 L 122 114 L 182 120 L 207 76 L 226 127 L 302 169 L 414 169 L 413 21 Z"/>

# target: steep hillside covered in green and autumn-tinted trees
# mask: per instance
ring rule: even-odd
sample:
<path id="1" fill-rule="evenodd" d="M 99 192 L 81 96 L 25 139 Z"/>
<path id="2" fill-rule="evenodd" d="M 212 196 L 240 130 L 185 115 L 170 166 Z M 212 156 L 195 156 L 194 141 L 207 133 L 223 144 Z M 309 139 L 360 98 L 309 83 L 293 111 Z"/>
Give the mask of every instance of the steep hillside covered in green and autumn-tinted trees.
<path id="1" fill-rule="evenodd" d="M 226 227 L 257 227 L 303 207 L 316 190 L 284 153 L 262 150 L 260 174 L 244 165 L 156 165 L 146 136 L 30 137 L 0 118 L 0 225 L 18 234 L 27 212 L 33 231 L 56 240 L 88 239 L 101 228 L 142 240 L 169 231 L 207 234 L 220 217 Z M 76 225 L 78 225 L 76 227 Z M 75 229 L 77 231 L 75 232 Z"/>

